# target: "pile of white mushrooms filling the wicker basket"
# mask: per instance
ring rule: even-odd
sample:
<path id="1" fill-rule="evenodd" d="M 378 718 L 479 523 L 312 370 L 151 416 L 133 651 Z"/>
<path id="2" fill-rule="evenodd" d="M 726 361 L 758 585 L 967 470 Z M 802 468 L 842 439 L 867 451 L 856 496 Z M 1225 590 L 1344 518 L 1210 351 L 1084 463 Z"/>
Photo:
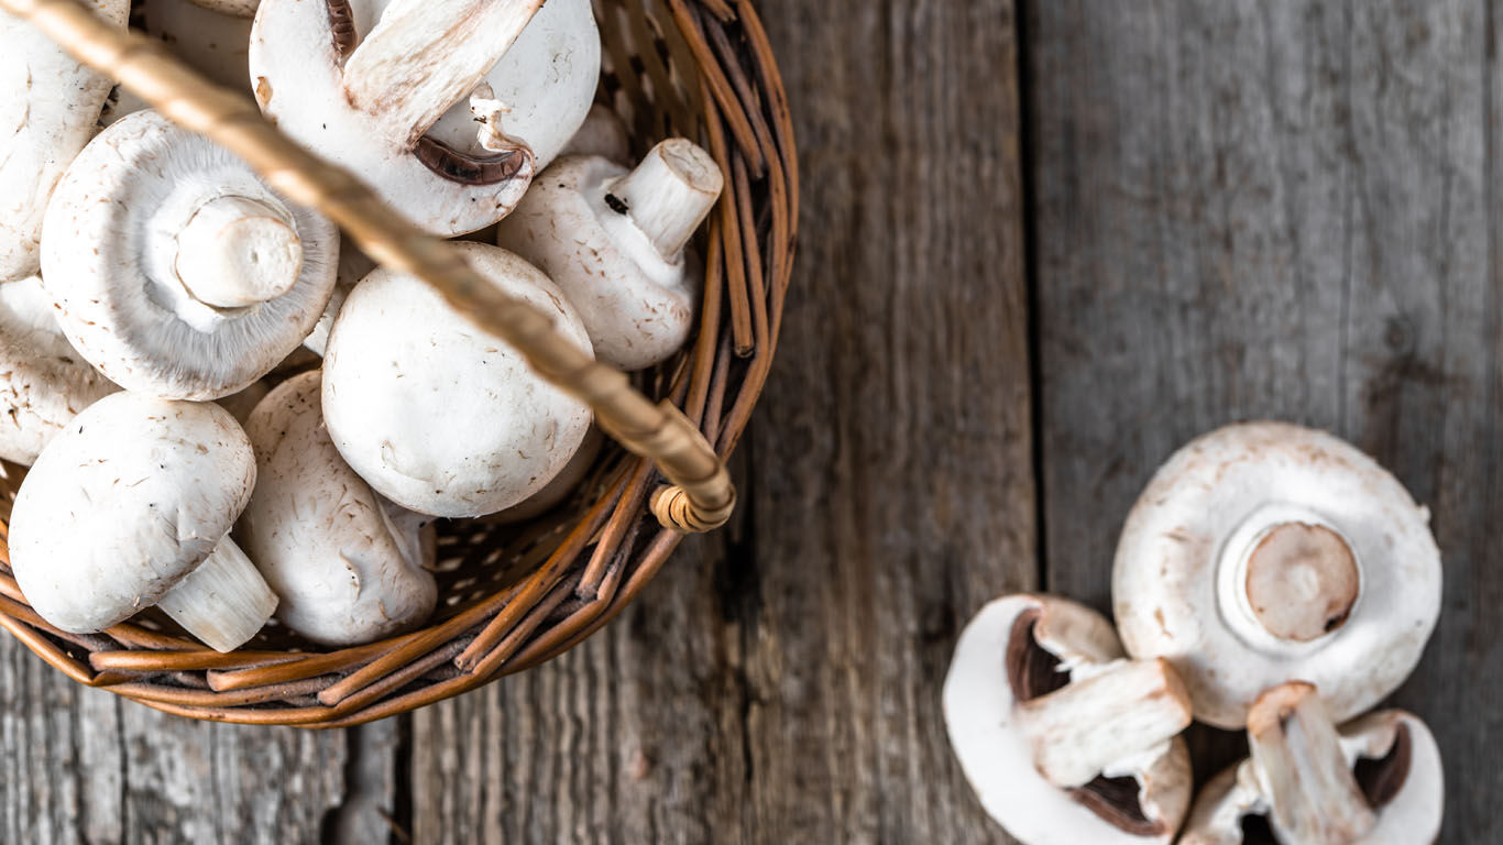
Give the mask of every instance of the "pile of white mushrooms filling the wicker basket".
<path id="1" fill-rule="evenodd" d="M 724 180 L 684 138 L 624 164 L 589 0 L 95 8 L 428 232 L 487 230 L 455 248 L 580 349 L 640 370 L 687 343 Z M 380 641 L 437 606 L 436 520 L 531 519 L 589 475 L 589 407 L 514 349 L 29 24 L 0 39 L 0 459 L 32 466 L 9 565 L 50 625 Z"/>

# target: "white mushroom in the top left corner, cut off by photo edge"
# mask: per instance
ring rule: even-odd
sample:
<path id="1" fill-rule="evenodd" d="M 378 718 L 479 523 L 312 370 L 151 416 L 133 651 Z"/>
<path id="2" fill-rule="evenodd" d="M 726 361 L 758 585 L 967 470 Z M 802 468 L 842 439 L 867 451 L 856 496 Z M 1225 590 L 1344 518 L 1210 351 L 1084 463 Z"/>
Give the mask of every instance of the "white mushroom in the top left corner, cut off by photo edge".
<path id="1" fill-rule="evenodd" d="M 95 0 L 125 29 L 129 0 Z M 68 162 L 98 131 L 111 81 L 0 12 L 0 281 L 36 274 L 42 215 Z"/>

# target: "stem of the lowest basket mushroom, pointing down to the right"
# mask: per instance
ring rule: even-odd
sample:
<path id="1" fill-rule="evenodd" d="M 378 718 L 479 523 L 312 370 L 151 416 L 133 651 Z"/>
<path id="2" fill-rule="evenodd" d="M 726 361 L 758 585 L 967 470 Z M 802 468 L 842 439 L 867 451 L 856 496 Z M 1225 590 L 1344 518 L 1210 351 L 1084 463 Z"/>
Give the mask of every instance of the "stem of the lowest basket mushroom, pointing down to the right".
<path id="1" fill-rule="evenodd" d="M 209 648 L 230 653 L 245 645 L 277 610 L 277 594 L 245 552 L 225 537 L 156 606 Z"/>

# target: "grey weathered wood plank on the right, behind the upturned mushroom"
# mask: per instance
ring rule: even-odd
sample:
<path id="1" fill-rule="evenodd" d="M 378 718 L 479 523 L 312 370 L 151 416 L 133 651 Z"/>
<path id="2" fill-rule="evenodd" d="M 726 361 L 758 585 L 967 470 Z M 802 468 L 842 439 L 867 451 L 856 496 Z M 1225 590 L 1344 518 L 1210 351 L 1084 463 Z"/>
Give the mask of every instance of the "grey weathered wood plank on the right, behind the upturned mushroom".
<path id="1" fill-rule="evenodd" d="M 1395 698 L 1446 755 L 1444 842 L 1503 836 L 1495 12 L 1033 0 L 1027 26 L 1049 586 L 1108 606 L 1129 505 L 1199 432 L 1353 439 L 1446 553 Z"/>

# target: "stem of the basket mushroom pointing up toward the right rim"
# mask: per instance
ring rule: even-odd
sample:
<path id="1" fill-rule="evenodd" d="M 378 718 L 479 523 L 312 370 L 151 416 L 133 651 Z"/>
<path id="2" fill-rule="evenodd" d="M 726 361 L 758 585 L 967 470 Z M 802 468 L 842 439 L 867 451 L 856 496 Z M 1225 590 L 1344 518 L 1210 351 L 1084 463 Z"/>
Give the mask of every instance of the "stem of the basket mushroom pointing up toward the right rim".
<path id="1" fill-rule="evenodd" d="M 606 186 L 606 204 L 648 236 L 658 254 L 676 262 L 684 245 L 720 198 L 724 176 L 708 152 L 669 138 L 642 164 Z"/>

